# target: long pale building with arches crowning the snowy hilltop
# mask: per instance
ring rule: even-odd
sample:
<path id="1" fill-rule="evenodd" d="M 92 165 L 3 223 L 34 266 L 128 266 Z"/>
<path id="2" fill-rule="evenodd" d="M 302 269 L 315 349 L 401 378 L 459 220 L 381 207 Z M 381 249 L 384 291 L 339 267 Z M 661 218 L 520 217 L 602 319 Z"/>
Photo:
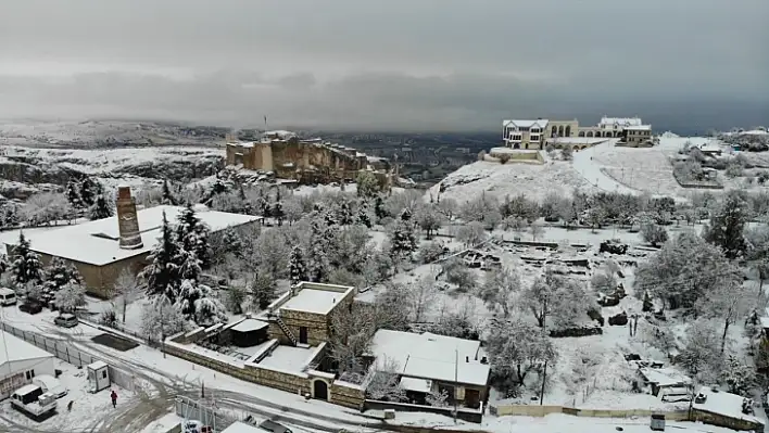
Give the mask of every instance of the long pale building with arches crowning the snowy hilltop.
<path id="1" fill-rule="evenodd" d="M 542 150 L 551 143 L 579 151 L 605 139 L 619 139 L 619 145 L 633 148 L 653 145 L 652 126 L 640 117 L 604 116 L 594 126 L 580 126 L 577 119 L 503 120 L 502 130 L 505 147 L 512 149 Z"/>

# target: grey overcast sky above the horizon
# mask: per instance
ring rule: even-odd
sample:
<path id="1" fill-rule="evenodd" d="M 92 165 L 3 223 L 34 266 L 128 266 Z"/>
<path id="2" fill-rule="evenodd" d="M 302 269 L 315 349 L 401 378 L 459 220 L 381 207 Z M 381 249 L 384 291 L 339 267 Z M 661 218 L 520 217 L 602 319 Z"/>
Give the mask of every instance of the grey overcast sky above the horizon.
<path id="1" fill-rule="evenodd" d="M 0 0 L 1 117 L 769 124 L 767 0 Z"/>

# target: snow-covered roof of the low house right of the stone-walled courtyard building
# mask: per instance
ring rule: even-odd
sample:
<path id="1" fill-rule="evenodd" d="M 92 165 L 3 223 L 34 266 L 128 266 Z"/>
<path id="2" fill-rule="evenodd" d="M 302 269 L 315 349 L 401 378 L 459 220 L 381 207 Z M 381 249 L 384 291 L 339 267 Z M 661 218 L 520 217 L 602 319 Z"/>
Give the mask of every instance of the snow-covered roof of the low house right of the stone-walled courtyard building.
<path id="1" fill-rule="evenodd" d="M 405 377 L 478 386 L 489 380 L 489 365 L 480 362 L 480 342 L 472 340 L 379 330 L 371 352 L 379 360 L 398 362 L 398 372 Z"/>

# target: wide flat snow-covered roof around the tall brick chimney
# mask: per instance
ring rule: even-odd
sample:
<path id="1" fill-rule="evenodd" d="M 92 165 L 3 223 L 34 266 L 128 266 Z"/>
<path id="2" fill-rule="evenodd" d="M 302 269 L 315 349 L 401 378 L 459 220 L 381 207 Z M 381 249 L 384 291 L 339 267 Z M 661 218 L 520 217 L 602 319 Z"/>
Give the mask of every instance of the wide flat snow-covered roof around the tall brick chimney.
<path id="1" fill-rule="evenodd" d="M 138 211 L 137 219 L 141 230 L 143 246 L 136 250 L 119 247 L 116 216 L 37 232 L 29 234 L 27 239 L 31 249 L 38 253 L 103 266 L 149 253 L 157 243 L 160 228 L 163 222 L 163 213 L 165 212 L 168 222 L 174 224 L 182 209 L 184 207 L 181 206 L 155 206 Z M 251 215 L 215 211 L 198 213 L 197 215 L 201 221 L 209 225 L 212 231 L 219 231 L 227 227 L 241 226 L 261 219 L 261 217 Z M 11 244 L 15 244 L 15 241 Z"/>

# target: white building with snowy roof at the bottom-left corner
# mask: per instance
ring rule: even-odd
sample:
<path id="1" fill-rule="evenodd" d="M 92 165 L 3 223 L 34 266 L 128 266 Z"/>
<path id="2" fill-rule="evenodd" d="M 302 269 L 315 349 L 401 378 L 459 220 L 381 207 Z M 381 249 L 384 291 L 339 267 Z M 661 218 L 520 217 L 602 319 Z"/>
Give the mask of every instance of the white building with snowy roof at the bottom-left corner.
<path id="1" fill-rule="evenodd" d="M 53 355 L 0 331 L 0 399 L 31 383 L 37 375 L 53 377 Z"/>

